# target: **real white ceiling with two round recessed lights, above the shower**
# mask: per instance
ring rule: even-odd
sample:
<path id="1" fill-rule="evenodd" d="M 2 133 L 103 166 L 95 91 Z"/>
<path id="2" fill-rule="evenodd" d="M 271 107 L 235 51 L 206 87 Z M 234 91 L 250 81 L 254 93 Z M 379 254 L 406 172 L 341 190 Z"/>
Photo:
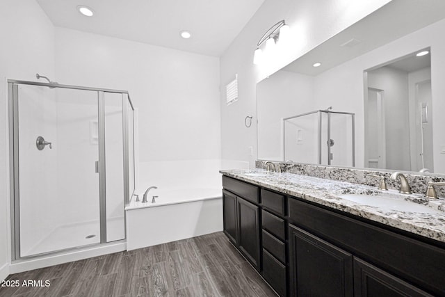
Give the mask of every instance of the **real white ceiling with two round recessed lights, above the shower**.
<path id="1" fill-rule="evenodd" d="M 221 56 L 264 0 L 36 0 L 54 26 Z M 76 6 L 92 8 L 85 17 Z M 180 31 L 192 37 L 181 38 Z"/>

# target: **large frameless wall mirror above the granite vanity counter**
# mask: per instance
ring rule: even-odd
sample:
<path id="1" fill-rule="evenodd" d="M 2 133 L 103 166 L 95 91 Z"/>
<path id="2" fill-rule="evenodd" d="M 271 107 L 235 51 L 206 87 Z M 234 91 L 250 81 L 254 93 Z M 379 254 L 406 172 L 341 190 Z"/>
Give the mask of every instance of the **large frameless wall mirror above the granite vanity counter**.
<path id="1" fill-rule="evenodd" d="M 258 159 L 444 173 L 443 35 L 445 1 L 393 0 L 260 81 Z"/>

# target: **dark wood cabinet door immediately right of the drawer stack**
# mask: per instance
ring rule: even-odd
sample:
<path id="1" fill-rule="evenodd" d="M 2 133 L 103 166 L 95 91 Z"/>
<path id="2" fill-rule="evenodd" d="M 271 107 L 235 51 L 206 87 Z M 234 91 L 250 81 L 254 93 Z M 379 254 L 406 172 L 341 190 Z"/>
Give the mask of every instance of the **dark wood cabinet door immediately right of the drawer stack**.
<path id="1" fill-rule="evenodd" d="M 289 224 L 289 260 L 291 296 L 353 296 L 349 252 Z"/>

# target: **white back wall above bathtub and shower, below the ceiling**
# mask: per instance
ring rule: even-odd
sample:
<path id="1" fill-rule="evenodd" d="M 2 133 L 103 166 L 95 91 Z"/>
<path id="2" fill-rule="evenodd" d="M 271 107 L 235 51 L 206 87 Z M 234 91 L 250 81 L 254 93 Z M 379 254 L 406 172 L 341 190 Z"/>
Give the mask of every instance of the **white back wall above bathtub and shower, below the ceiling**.
<path id="1" fill-rule="evenodd" d="M 220 157 L 218 58 L 56 28 L 60 83 L 129 90 L 141 162 Z"/>

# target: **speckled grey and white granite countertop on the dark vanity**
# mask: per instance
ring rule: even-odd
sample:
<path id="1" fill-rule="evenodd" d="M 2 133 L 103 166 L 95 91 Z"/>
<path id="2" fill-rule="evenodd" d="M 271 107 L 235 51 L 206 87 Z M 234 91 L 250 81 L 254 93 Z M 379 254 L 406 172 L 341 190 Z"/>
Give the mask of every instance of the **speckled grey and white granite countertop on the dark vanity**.
<path id="1" fill-rule="evenodd" d="M 374 186 L 351 184 L 349 182 L 284 172 L 221 170 L 220 173 L 407 232 L 445 242 L 445 199 L 443 198 L 429 199 L 419 194 L 405 195 L 398 193 L 396 190 L 380 191 Z M 342 194 L 386 195 L 398 200 L 410 200 L 413 203 L 428 205 L 428 207 L 438 211 L 435 214 L 423 214 L 382 209 L 343 199 L 339 197 Z"/>

